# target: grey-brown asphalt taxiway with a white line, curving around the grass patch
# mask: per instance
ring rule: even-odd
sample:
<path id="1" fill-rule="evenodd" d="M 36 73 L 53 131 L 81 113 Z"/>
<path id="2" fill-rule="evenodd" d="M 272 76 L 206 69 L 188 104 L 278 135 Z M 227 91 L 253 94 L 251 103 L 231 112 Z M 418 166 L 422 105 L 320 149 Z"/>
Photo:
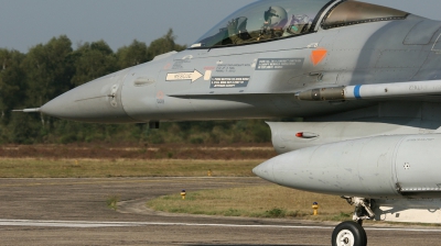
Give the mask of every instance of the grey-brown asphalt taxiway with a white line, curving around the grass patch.
<path id="1" fill-rule="evenodd" d="M 1 245 L 330 245 L 337 223 L 169 214 L 149 199 L 258 178 L 0 179 Z M 119 194 L 118 211 L 106 197 Z M 265 195 L 265 194 L 262 194 Z M 275 204 L 276 206 L 277 204 Z M 366 226 L 368 245 L 439 245 L 441 227 Z"/>

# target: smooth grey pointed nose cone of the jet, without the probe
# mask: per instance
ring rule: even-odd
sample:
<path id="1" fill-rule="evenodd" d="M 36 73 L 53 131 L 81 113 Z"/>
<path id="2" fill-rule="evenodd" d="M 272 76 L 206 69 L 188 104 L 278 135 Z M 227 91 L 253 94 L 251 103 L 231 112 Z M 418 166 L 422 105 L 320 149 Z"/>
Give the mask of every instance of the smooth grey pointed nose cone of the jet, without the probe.
<path id="1" fill-rule="evenodd" d="M 79 86 L 41 108 L 44 114 L 83 122 L 133 122 L 123 108 L 121 89 L 128 70 Z"/>

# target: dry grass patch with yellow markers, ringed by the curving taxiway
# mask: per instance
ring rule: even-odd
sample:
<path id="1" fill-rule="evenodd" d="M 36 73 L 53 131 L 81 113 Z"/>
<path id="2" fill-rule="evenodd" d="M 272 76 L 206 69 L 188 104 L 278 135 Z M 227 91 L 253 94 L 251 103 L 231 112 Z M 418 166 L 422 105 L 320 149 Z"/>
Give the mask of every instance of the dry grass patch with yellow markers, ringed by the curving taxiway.
<path id="1" fill-rule="evenodd" d="M 313 216 L 312 203 L 319 202 L 319 215 Z M 295 217 L 319 221 L 348 220 L 353 208 L 335 195 L 298 191 L 276 185 L 186 191 L 160 197 L 147 205 L 171 213 L 207 214 L 247 217 Z"/>

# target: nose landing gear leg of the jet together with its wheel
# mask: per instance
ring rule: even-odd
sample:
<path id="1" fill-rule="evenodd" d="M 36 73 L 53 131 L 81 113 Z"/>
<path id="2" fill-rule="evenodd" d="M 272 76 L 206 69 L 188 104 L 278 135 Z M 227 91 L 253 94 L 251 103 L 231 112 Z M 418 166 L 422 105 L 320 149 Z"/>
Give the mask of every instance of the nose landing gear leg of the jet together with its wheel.
<path id="1" fill-rule="evenodd" d="M 363 228 L 364 220 L 372 220 L 375 216 L 372 210 L 372 201 L 364 198 L 346 198 L 351 205 L 355 205 L 354 221 L 346 221 L 338 224 L 332 233 L 332 246 L 366 246 L 367 236 Z"/>

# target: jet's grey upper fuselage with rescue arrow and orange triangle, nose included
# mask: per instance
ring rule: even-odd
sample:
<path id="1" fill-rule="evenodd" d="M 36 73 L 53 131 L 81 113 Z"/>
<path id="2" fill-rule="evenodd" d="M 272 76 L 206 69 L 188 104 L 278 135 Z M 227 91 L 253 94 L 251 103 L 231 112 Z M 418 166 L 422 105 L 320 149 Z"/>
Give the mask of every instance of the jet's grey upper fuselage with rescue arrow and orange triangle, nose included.
<path id="1" fill-rule="evenodd" d="M 297 92 L 441 77 L 441 22 L 409 14 L 323 29 L 326 11 L 313 32 L 164 54 L 75 88 L 41 111 L 105 123 L 309 118 L 376 101 L 308 102 Z"/>

